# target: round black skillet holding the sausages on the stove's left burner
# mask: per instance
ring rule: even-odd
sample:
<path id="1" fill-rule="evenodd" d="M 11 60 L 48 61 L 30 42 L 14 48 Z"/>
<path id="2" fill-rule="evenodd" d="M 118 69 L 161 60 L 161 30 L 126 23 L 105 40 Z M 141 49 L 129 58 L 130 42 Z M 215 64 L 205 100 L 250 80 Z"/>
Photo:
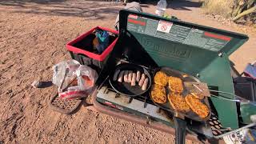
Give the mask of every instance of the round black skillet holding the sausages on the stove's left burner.
<path id="1" fill-rule="evenodd" d="M 142 90 L 141 86 L 138 86 L 138 82 L 136 82 L 136 86 L 130 86 L 130 83 L 127 82 L 118 82 L 113 81 L 114 72 L 116 70 L 132 70 L 134 73 L 137 73 L 137 70 L 141 72 L 141 74 L 146 74 L 146 78 L 149 78 L 148 86 L 146 90 Z M 143 68 L 142 66 L 138 66 L 131 63 L 122 63 L 115 67 L 115 70 L 110 73 L 109 82 L 112 88 L 117 91 L 119 94 L 124 94 L 129 97 L 136 97 L 138 95 L 146 93 L 147 90 L 150 89 L 151 86 L 151 76 L 150 72 L 146 70 L 146 68 Z"/>

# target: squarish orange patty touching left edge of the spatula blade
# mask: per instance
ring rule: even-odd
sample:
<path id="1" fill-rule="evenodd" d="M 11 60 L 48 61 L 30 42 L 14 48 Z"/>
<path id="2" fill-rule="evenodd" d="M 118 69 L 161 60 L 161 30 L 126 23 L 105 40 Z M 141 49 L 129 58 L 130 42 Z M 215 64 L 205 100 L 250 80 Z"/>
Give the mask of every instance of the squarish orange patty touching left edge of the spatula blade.
<path id="1" fill-rule="evenodd" d="M 169 84 L 169 89 L 172 90 L 173 92 L 182 93 L 183 85 L 182 85 L 181 78 L 176 78 L 176 77 L 170 76 L 168 78 L 168 84 Z"/>

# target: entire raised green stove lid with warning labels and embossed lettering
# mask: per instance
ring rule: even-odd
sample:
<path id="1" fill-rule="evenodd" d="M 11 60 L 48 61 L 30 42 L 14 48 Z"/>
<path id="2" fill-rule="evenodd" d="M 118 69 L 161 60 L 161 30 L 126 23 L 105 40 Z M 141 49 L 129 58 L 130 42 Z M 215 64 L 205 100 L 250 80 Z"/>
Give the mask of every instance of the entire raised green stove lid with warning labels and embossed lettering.
<path id="1" fill-rule="evenodd" d="M 248 40 L 244 34 L 131 10 L 121 10 L 119 21 L 120 34 L 136 38 L 159 66 L 194 75 Z"/>

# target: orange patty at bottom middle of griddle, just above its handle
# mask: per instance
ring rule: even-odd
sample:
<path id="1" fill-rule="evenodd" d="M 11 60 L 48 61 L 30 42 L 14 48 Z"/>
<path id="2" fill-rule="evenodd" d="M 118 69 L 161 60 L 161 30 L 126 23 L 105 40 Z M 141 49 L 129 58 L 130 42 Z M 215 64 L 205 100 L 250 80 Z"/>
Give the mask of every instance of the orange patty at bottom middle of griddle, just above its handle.
<path id="1" fill-rule="evenodd" d="M 170 93 L 168 94 L 168 100 L 170 102 L 170 106 L 174 110 L 180 111 L 182 113 L 187 113 L 190 111 L 190 106 L 186 104 L 185 98 L 183 98 L 181 94 Z"/>

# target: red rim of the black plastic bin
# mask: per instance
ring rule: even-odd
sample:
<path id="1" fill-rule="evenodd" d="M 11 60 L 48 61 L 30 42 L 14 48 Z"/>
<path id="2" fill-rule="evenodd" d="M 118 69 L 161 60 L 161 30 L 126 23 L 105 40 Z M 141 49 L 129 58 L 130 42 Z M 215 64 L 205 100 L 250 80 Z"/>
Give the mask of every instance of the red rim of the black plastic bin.
<path id="1" fill-rule="evenodd" d="M 115 43 L 117 42 L 118 38 L 115 38 L 114 42 L 111 42 L 110 46 L 108 46 L 106 48 L 106 50 L 104 50 L 102 52 L 102 54 L 94 54 L 94 53 L 92 53 L 88 50 L 82 50 L 81 48 L 78 48 L 78 47 L 74 46 L 75 43 L 82 41 L 82 39 L 86 38 L 89 34 L 92 34 L 93 31 L 96 30 L 96 29 L 106 30 L 106 31 L 108 31 L 112 34 L 118 34 L 118 31 L 116 31 L 116 30 L 111 30 L 111 29 L 106 28 L 106 27 L 97 26 L 97 27 L 94 27 L 93 29 L 89 30 L 85 34 L 80 35 L 78 38 L 75 38 L 74 40 L 68 42 L 66 44 L 66 49 L 69 50 L 70 52 L 74 53 L 74 54 L 83 54 L 83 55 L 86 55 L 87 57 L 92 58 L 94 60 L 98 60 L 100 62 L 104 61 L 106 56 L 108 54 L 110 54 L 110 51 L 113 50 L 113 47 L 114 47 Z"/>

